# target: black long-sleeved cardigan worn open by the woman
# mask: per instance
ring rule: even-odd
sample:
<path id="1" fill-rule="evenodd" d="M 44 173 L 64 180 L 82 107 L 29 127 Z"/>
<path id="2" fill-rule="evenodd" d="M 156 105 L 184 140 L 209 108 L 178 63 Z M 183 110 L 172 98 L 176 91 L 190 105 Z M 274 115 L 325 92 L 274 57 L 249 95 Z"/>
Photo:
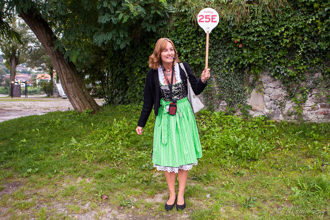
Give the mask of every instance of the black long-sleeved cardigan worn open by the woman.
<path id="1" fill-rule="evenodd" d="M 197 80 L 193 71 L 190 69 L 188 63 L 183 62 L 185 69 L 187 71 L 190 84 L 196 95 L 200 94 L 204 88 L 206 87 L 207 83 L 202 82 L 201 78 Z M 185 83 L 186 90 L 188 92 L 188 85 L 187 85 L 187 76 L 185 71 L 181 68 L 180 69 L 180 77 L 181 80 Z M 146 121 L 149 118 L 149 115 L 152 110 L 152 106 L 154 104 L 154 115 L 158 115 L 158 108 L 160 105 L 160 92 L 159 92 L 159 78 L 158 78 L 158 70 L 150 69 L 146 73 L 145 78 L 145 86 L 144 86 L 144 95 L 143 95 L 143 106 L 140 118 L 137 122 L 137 126 L 144 127 Z"/>

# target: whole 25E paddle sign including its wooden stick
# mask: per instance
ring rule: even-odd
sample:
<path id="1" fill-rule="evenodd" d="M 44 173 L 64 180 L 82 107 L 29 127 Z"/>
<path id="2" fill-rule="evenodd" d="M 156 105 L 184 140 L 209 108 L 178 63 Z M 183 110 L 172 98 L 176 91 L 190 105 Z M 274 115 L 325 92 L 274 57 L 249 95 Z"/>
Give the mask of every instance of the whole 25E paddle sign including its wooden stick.
<path id="1" fill-rule="evenodd" d="M 211 8 L 205 8 L 198 13 L 197 21 L 199 26 L 204 29 L 206 33 L 206 53 L 205 53 L 205 67 L 209 65 L 209 34 L 217 27 L 219 23 L 219 14 Z"/>

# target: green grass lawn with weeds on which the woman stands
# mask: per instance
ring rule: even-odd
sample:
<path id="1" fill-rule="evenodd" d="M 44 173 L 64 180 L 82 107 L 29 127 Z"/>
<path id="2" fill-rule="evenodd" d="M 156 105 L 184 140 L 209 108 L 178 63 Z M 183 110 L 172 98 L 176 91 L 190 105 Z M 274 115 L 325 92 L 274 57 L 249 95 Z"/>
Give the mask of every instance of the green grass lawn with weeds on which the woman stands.
<path id="1" fill-rule="evenodd" d="M 329 124 L 201 111 L 187 208 L 166 211 L 166 179 L 151 162 L 154 115 L 142 136 L 138 117 L 127 105 L 0 123 L 0 219 L 330 217 Z"/>

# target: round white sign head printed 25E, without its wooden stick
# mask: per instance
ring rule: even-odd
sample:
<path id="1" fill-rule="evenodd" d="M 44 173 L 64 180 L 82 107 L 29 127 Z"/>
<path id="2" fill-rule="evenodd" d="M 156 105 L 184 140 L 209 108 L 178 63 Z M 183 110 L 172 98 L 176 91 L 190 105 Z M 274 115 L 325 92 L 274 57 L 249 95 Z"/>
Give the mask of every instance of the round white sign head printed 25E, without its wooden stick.
<path id="1" fill-rule="evenodd" d="M 204 29 L 205 33 L 207 33 L 207 31 L 210 33 L 219 23 L 219 14 L 214 9 L 205 8 L 198 13 L 197 21 L 199 26 Z"/>

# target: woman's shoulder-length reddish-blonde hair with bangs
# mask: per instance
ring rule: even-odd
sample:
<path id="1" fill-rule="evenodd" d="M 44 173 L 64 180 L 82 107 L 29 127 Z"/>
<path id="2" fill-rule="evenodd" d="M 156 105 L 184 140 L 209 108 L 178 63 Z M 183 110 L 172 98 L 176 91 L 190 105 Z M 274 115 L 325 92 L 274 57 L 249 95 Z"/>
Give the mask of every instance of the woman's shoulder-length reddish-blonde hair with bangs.
<path id="1" fill-rule="evenodd" d="M 174 56 L 176 57 L 174 60 L 173 60 L 173 63 L 174 62 L 177 62 L 179 63 L 180 60 L 178 58 L 178 51 L 176 50 L 176 48 L 174 47 L 174 44 L 173 42 L 168 39 L 168 38 L 160 38 L 157 40 L 156 42 L 156 45 L 154 46 L 154 50 L 153 50 L 153 53 L 151 54 L 151 56 L 149 56 L 149 67 L 156 70 L 158 69 L 159 67 L 159 64 L 161 62 L 160 60 L 160 53 L 166 49 L 166 47 L 168 46 L 168 43 L 171 43 L 172 46 L 173 46 L 173 49 L 174 49 Z"/>

